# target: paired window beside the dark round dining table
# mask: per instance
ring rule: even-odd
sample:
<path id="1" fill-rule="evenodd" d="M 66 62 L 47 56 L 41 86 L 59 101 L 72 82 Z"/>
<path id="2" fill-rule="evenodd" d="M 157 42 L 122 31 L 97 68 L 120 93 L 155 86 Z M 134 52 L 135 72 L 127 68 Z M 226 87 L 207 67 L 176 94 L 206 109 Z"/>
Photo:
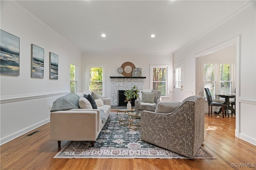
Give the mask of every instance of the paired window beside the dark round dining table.
<path id="1" fill-rule="evenodd" d="M 230 94 L 232 92 L 233 82 L 233 64 L 232 63 L 204 63 L 204 88 L 208 88 L 215 99 L 215 94 Z M 204 93 L 206 98 L 206 94 Z"/>

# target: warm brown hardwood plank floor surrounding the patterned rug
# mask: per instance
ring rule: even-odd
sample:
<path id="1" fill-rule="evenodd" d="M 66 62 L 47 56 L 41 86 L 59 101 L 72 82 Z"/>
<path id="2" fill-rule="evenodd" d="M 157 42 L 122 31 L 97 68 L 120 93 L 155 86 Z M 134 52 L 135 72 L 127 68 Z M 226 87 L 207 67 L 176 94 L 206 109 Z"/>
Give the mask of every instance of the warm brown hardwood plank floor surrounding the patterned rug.
<path id="1" fill-rule="evenodd" d="M 115 110 L 113 110 L 115 111 Z M 217 159 L 65 159 L 53 158 L 60 150 L 50 140 L 50 123 L 1 146 L 1 170 L 216 170 L 255 169 L 256 146 L 235 137 L 235 116 L 205 114 L 203 146 Z M 221 115 L 220 115 L 221 116 Z M 68 141 L 61 142 L 61 148 Z M 231 167 L 232 163 L 235 167 Z M 250 166 L 250 168 L 245 168 Z"/>

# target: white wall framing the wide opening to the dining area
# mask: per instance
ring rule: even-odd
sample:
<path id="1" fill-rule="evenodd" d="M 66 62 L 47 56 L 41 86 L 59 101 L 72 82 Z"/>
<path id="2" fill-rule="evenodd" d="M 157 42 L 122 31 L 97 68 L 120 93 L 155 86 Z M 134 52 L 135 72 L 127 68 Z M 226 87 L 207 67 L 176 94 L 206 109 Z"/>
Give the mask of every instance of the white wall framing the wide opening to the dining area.
<path id="1" fill-rule="evenodd" d="M 255 1 L 249 3 L 247 8 L 226 22 L 175 51 L 174 64 L 184 60 L 184 76 L 188 80 L 184 87 L 186 91 L 195 91 L 195 82 L 191 81 L 191 78 L 196 79 L 195 55 L 240 36 L 240 59 L 239 65 L 236 65 L 240 70 L 239 84 L 236 85 L 239 87 L 236 89 L 239 98 L 239 105 L 236 106 L 236 136 L 256 145 L 256 5 Z"/>

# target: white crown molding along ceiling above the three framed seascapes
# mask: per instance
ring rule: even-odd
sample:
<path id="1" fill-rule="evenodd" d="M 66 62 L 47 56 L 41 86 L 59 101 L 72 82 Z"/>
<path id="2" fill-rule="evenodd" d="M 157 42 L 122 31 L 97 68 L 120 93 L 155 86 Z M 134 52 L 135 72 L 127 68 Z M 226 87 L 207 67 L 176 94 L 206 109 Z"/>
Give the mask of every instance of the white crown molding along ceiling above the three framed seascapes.
<path id="1" fill-rule="evenodd" d="M 66 38 L 64 38 L 63 36 L 61 36 L 58 32 L 54 31 L 51 27 L 49 27 L 47 24 L 45 24 L 44 22 L 42 22 L 42 20 L 40 20 L 39 18 L 37 18 L 34 14 L 32 14 L 31 12 L 29 12 L 28 10 L 26 10 L 23 6 L 21 6 L 18 2 L 16 2 L 15 0 L 4 0 L 4 2 L 6 2 L 7 4 L 9 4 L 10 6 L 12 6 L 13 8 L 15 8 L 16 10 L 18 10 L 20 13 L 22 13 L 24 16 L 26 16 L 27 18 L 29 18 L 30 20 L 32 20 L 33 22 L 35 22 L 38 26 L 44 28 L 44 30 L 50 32 L 50 34 L 54 35 L 56 38 L 58 38 L 59 40 L 62 40 L 63 42 L 68 43 L 69 45 L 71 45 L 72 47 L 74 47 L 75 49 L 77 49 L 78 51 L 80 51 L 80 53 L 82 53 L 82 51 L 80 49 L 78 49 L 78 47 L 76 47 L 74 44 L 72 44 L 71 42 L 69 42 Z"/>

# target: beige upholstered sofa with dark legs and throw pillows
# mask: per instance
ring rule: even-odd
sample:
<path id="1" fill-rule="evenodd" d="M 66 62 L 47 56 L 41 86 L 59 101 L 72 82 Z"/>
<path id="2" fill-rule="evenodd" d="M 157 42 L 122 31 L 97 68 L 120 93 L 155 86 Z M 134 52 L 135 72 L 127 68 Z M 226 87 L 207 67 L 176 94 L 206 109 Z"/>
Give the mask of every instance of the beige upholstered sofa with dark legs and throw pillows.
<path id="1" fill-rule="evenodd" d="M 80 107 L 77 107 L 80 104 L 78 101 L 80 97 L 92 93 L 91 91 L 84 91 L 76 93 L 76 95 L 69 94 L 74 99 L 68 99 L 68 102 L 63 106 L 64 108 L 60 108 L 63 110 L 56 111 L 58 109 L 53 109 L 53 106 L 53 110 L 50 113 L 50 138 L 51 140 L 58 140 L 59 147 L 61 140 L 91 141 L 92 146 L 94 146 L 94 141 L 110 114 L 111 100 L 110 98 L 102 98 L 104 105 L 99 106 L 97 109 L 80 109 Z M 71 106 L 68 107 L 73 109 L 66 107 L 69 105 L 67 104 L 69 101 L 72 102 Z"/>

